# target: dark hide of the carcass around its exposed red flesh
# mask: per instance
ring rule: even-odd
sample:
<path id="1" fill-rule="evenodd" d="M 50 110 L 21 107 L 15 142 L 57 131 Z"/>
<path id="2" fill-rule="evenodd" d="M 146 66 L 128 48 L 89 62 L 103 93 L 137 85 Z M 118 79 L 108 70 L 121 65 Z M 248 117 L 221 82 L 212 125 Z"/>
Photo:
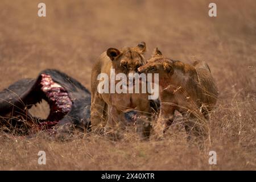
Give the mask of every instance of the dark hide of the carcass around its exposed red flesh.
<path id="1" fill-rule="evenodd" d="M 60 116 L 56 117 L 59 119 L 58 121 L 55 121 L 56 118 L 52 119 L 55 113 L 50 113 L 47 119 L 50 121 L 52 119 L 51 122 L 55 122 L 57 125 L 72 123 L 79 129 L 90 130 L 90 92 L 74 78 L 54 69 L 42 71 L 36 79 L 19 80 L 0 92 L 0 116 L 5 118 L 7 115 L 11 115 L 11 117 L 21 115 L 24 120 L 33 120 L 38 124 L 44 122 L 38 118 L 31 119 L 31 115 L 27 111 L 42 99 L 46 100 L 50 107 L 53 107 L 46 92 L 42 91 L 42 74 L 48 75 L 53 82 L 60 85 L 64 94 L 68 95 L 69 101 L 72 101 L 71 109 L 61 118 Z M 19 119 L 15 120 L 15 122 L 18 121 Z"/>

